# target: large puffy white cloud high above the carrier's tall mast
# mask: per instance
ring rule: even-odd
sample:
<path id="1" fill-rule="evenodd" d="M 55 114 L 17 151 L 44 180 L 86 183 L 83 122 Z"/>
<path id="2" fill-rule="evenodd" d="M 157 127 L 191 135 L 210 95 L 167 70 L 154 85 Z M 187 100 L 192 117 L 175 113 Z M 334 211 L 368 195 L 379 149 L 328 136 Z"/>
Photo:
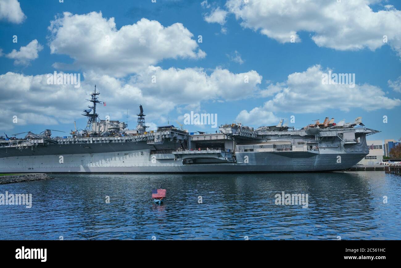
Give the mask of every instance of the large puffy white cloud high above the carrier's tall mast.
<path id="1" fill-rule="evenodd" d="M 156 20 L 142 18 L 117 30 L 114 18 L 101 12 L 73 15 L 65 12 L 51 21 L 51 53 L 73 58 L 76 68 L 123 77 L 163 59 L 199 59 L 206 53 L 181 23 L 164 27 Z M 55 68 L 66 67 L 56 63 Z"/>

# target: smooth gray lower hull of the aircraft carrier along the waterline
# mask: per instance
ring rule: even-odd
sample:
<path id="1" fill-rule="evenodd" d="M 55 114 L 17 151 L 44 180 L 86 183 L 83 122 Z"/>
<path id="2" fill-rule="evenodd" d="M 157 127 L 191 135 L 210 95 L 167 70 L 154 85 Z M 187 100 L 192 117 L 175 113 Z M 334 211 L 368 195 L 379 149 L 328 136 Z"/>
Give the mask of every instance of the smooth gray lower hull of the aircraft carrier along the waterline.
<path id="1" fill-rule="evenodd" d="M 0 173 L 261 173 L 342 170 L 366 154 L 238 152 L 235 163 L 183 164 L 172 154 L 152 157 L 149 150 L 94 154 L 49 154 L 0 158 Z M 61 161 L 60 156 L 63 157 Z M 341 161 L 338 162 L 338 157 Z M 245 160 L 247 158 L 248 162 Z"/>

